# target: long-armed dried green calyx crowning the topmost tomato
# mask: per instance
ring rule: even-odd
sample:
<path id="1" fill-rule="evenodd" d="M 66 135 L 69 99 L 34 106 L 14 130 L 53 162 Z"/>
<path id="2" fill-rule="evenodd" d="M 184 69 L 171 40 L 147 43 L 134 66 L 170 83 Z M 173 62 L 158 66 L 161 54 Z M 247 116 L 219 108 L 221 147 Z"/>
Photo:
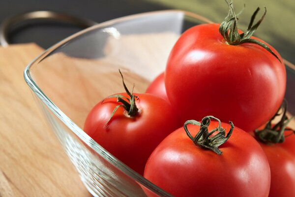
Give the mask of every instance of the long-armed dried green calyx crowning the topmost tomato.
<path id="1" fill-rule="evenodd" d="M 281 60 L 279 57 L 263 42 L 251 38 L 255 30 L 258 28 L 258 26 L 261 24 L 263 21 L 264 17 L 266 16 L 266 7 L 265 7 L 265 13 L 263 16 L 260 18 L 260 20 L 253 25 L 254 19 L 259 12 L 260 8 L 258 7 L 255 12 L 253 13 L 248 29 L 243 32 L 243 33 L 238 33 L 238 28 L 237 28 L 237 16 L 241 13 L 235 14 L 234 12 L 234 6 L 233 6 L 233 1 L 229 2 L 228 0 L 225 0 L 229 7 L 230 11 L 224 21 L 220 24 L 219 27 L 219 33 L 223 36 L 223 38 L 227 41 L 228 44 L 230 45 L 239 45 L 243 43 L 253 43 L 253 44 L 258 44 L 259 46 L 265 48 L 269 53 L 271 53 L 276 59 L 278 59 L 280 62 Z"/>

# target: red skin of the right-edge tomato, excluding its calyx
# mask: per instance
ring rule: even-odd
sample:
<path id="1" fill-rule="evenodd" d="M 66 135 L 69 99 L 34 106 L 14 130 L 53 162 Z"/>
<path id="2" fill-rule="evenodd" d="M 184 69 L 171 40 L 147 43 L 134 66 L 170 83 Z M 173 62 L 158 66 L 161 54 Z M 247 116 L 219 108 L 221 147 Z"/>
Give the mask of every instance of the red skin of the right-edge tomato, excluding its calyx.
<path id="1" fill-rule="evenodd" d="M 283 143 L 260 145 L 270 166 L 269 197 L 295 197 L 295 135 Z"/>

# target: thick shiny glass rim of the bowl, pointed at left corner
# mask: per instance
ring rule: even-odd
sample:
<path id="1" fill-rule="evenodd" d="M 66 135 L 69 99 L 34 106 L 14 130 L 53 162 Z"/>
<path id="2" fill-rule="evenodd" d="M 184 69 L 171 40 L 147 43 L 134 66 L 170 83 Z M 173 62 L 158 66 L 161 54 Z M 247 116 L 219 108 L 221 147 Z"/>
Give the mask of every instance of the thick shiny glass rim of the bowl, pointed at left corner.
<path id="1" fill-rule="evenodd" d="M 137 19 L 141 17 L 148 17 L 148 16 L 154 16 L 154 15 L 161 15 L 165 13 L 175 13 L 175 14 L 182 14 L 183 16 L 192 17 L 194 19 L 200 20 L 204 23 L 212 23 L 209 19 L 200 16 L 198 14 L 183 11 L 183 10 L 160 10 L 160 11 L 151 11 L 151 12 L 144 12 L 139 14 L 132 14 L 128 16 L 119 17 L 116 19 L 112 19 L 103 23 L 99 23 L 97 25 L 91 26 L 85 30 L 82 30 L 78 33 L 75 33 L 73 35 L 68 36 L 67 38 L 59 41 L 58 43 L 54 44 L 44 52 L 42 52 L 39 56 L 37 56 L 34 60 L 32 60 L 28 66 L 26 66 L 24 70 L 24 79 L 26 83 L 29 85 L 29 88 L 34 92 L 34 94 L 41 99 L 41 101 L 55 114 L 61 122 L 65 126 L 67 126 L 78 138 L 80 138 L 84 143 L 86 143 L 90 148 L 92 148 L 97 154 L 99 154 L 101 157 L 103 157 L 105 160 L 107 160 L 109 163 L 113 164 L 115 167 L 117 167 L 119 170 L 121 170 L 123 173 L 125 173 L 127 176 L 135 180 L 136 182 L 140 183 L 144 187 L 146 187 L 148 190 L 154 192 L 157 195 L 160 195 L 162 197 L 171 197 L 169 193 L 164 191 L 163 189 L 159 188 L 158 186 L 154 185 L 148 179 L 144 178 L 142 175 L 135 172 L 133 169 L 128 167 L 127 165 L 123 164 L 121 161 L 119 161 L 116 157 L 114 157 L 112 154 L 110 154 L 107 150 L 105 150 L 102 146 L 100 146 L 98 143 L 96 143 L 91 137 L 89 137 L 88 134 L 86 134 L 85 131 L 83 131 L 80 127 L 78 127 L 65 113 L 63 113 L 59 107 L 47 97 L 47 95 L 38 87 L 38 85 L 35 83 L 33 78 L 30 75 L 30 67 L 38 64 L 41 62 L 44 58 L 46 58 L 48 55 L 53 53 L 55 50 L 62 47 L 62 45 L 66 44 L 67 42 L 79 37 L 80 35 L 83 35 L 85 33 L 91 32 L 96 29 L 100 29 L 103 27 L 111 26 L 116 23 L 129 21 L 132 19 Z"/>

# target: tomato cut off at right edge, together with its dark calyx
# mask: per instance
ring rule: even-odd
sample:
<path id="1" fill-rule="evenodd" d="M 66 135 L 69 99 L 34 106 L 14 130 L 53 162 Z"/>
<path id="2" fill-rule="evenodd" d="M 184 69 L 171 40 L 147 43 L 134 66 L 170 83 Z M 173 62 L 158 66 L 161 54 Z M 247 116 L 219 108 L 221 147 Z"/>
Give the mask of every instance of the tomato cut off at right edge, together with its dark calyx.
<path id="1" fill-rule="evenodd" d="M 287 101 L 255 137 L 266 153 L 270 166 L 269 197 L 295 197 L 295 131 L 288 128 L 294 118 L 287 117 Z M 281 120 L 273 124 L 276 117 Z"/>

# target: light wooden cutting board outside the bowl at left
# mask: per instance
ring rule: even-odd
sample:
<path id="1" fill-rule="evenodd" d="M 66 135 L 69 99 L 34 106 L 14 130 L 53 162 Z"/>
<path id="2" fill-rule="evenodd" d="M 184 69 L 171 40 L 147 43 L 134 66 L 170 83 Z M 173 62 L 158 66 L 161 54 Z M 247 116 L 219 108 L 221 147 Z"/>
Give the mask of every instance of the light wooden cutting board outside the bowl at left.
<path id="1" fill-rule="evenodd" d="M 90 197 L 23 77 L 42 51 L 0 47 L 0 197 Z"/>

